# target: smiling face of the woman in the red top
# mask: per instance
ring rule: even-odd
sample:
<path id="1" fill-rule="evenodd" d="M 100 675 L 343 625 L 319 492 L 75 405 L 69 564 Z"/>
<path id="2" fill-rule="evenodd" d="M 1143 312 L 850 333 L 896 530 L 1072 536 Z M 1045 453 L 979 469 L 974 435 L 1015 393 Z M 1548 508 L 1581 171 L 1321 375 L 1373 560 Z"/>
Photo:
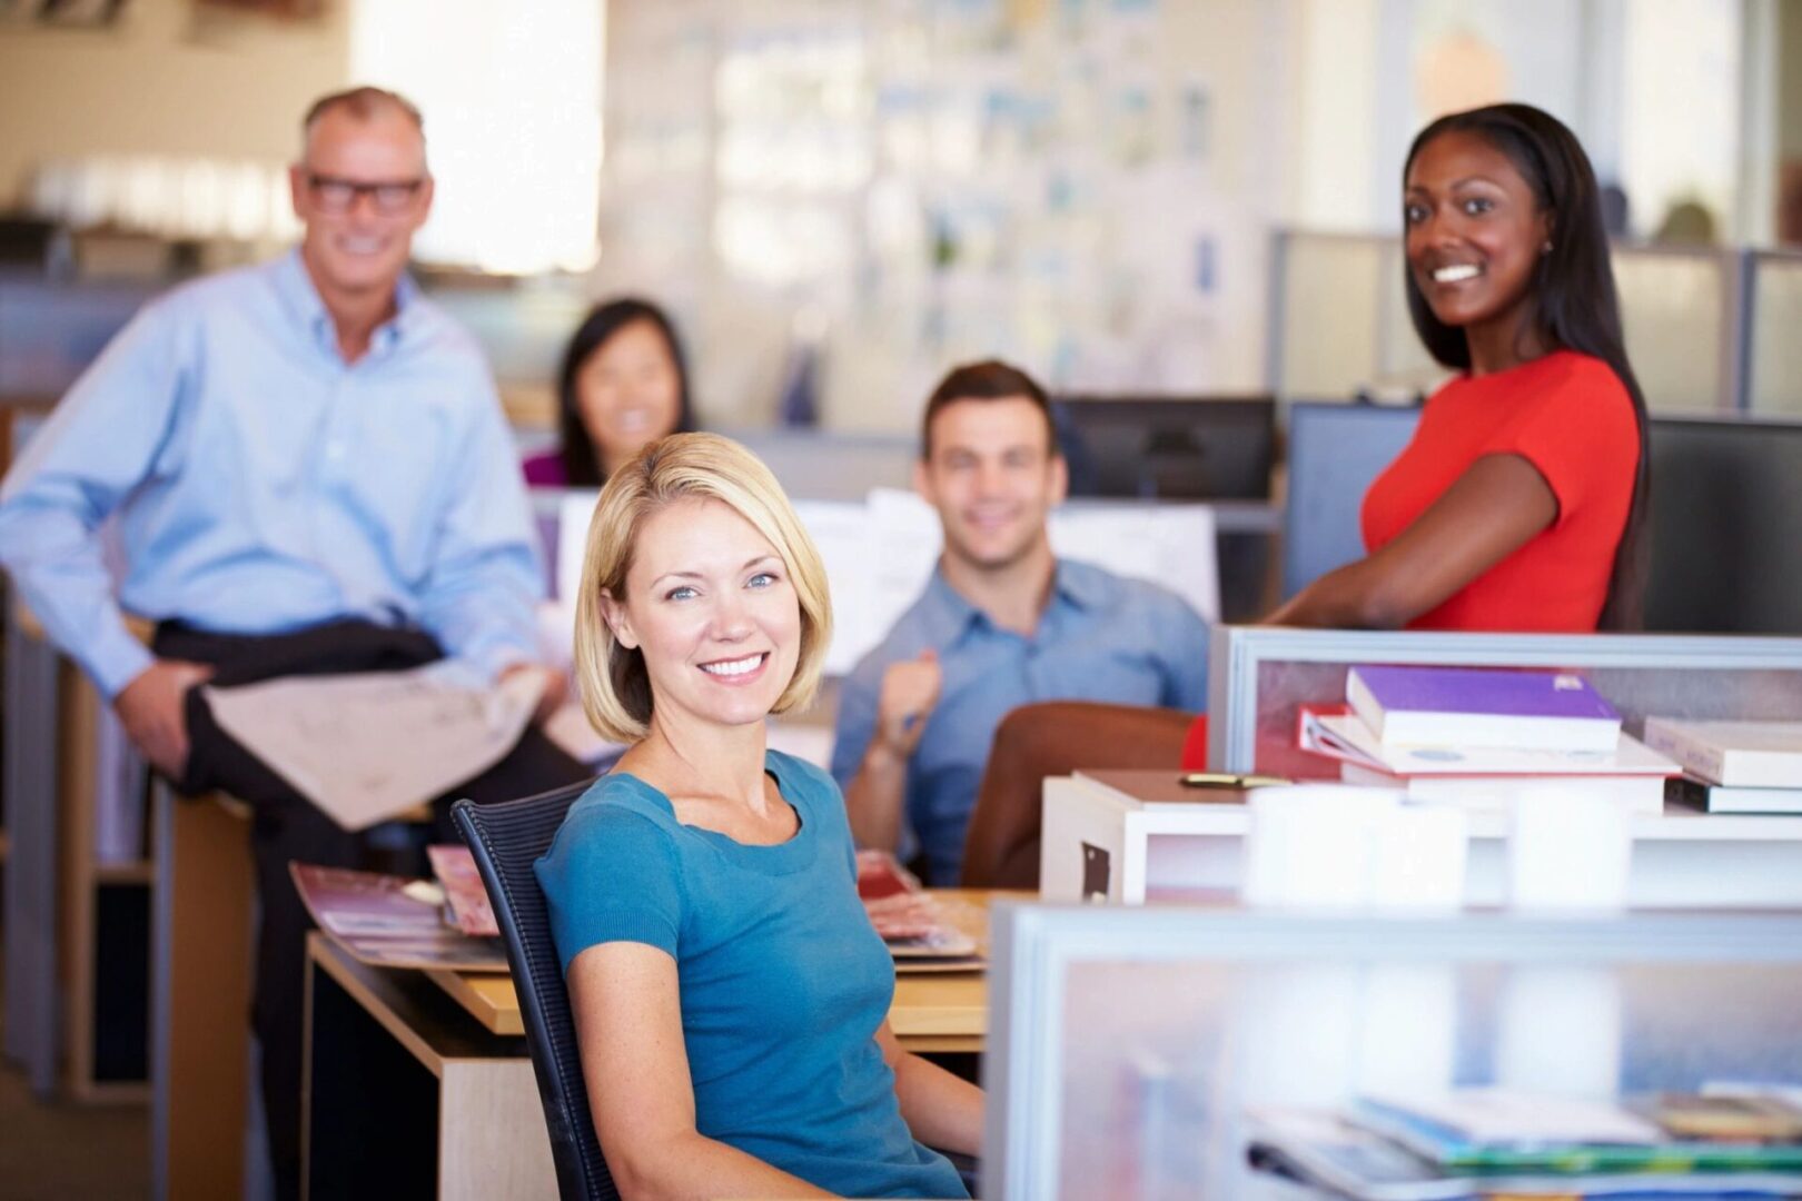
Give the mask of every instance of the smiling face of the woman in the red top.
<path id="1" fill-rule="evenodd" d="M 1451 130 L 1420 148 L 1402 198 L 1407 266 L 1447 326 L 1515 324 L 1552 236 L 1514 160 L 1476 133 Z"/>

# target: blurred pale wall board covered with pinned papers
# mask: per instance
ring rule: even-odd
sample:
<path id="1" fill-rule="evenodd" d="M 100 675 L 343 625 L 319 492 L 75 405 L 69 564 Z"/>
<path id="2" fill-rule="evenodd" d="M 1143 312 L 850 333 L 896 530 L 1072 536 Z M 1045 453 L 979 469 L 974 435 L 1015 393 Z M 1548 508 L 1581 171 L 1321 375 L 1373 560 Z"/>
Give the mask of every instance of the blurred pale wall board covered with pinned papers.
<path id="1" fill-rule="evenodd" d="M 809 351 L 840 429 L 908 429 L 987 355 L 1054 389 L 1256 387 L 1279 9 L 616 4 L 596 284 L 672 303 L 724 421 Z"/>

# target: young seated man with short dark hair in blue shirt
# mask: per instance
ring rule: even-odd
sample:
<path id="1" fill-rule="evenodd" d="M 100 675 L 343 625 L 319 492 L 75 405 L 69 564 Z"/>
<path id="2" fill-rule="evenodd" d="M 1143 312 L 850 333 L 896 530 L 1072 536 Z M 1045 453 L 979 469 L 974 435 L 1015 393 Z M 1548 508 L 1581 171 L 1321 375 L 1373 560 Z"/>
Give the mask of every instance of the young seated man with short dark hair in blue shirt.
<path id="1" fill-rule="evenodd" d="M 860 846 L 957 884 L 995 727 L 1034 700 L 1207 708 L 1207 627 L 1179 596 L 1060 560 L 1067 488 L 1043 389 L 1002 362 L 926 402 L 914 486 L 944 553 L 914 607 L 845 679 L 833 776 Z"/>

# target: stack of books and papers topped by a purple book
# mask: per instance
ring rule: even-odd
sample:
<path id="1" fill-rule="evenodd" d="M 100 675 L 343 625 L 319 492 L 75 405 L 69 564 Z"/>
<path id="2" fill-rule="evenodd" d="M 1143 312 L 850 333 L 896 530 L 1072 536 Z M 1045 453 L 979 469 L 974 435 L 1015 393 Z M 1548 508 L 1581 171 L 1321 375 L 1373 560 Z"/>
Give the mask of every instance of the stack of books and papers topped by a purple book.
<path id="1" fill-rule="evenodd" d="M 1624 735 L 1589 681 L 1566 672 L 1355 666 L 1346 706 L 1303 708 L 1299 740 L 1337 758 L 1346 783 L 1467 808 L 1557 783 L 1660 814 L 1665 780 L 1679 771 Z"/>

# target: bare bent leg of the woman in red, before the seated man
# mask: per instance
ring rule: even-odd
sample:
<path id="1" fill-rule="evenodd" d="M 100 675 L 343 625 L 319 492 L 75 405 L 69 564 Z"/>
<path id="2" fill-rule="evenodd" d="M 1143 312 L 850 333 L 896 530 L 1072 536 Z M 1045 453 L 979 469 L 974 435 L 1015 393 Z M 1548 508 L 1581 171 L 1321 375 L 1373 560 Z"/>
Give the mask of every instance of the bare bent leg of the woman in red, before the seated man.
<path id="1" fill-rule="evenodd" d="M 1092 700 L 1038 700 L 1009 711 L 995 727 L 969 812 L 962 886 L 1038 888 L 1045 776 L 1083 767 L 1175 769 L 1193 722 L 1193 713 L 1177 709 Z"/>

